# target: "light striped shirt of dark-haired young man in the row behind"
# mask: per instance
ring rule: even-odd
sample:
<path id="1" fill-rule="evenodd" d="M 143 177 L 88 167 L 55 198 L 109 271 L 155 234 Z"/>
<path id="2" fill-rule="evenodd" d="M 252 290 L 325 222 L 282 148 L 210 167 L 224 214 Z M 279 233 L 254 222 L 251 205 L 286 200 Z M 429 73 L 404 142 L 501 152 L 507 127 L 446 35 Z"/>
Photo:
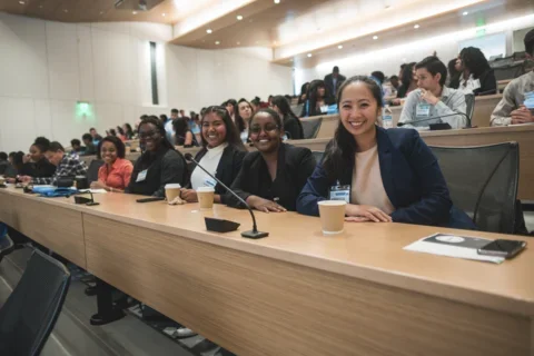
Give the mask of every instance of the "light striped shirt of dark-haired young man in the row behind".
<path id="1" fill-rule="evenodd" d="M 423 120 L 435 117 L 436 119 L 426 120 L 423 122 L 414 122 L 409 125 L 407 123 L 405 127 L 428 127 L 431 123 L 446 122 L 451 125 L 453 129 L 461 129 L 467 125 L 467 119 L 464 116 L 467 111 L 467 106 L 465 103 L 465 95 L 459 90 L 443 87 L 439 101 L 436 105 L 429 105 L 428 116 L 418 117 L 416 115 L 417 106 L 419 103 L 426 105 L 427 102 L 421 99 L 421 89 L 417 89 L 408 95 L 398 122 L 409 122 L 414 120 Z M 462 112 L 464 115 L 454 115 L 455 112 Z M 437 118 L 443 116 L 447 117 Z"/>

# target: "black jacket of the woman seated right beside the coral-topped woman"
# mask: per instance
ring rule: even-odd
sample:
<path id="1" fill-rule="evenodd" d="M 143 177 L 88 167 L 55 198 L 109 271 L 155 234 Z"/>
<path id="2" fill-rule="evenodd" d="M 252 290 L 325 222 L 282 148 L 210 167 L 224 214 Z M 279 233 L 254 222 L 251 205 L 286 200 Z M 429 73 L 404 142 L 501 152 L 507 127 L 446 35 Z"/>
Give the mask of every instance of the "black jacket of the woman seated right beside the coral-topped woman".
<path id="1" fill-rule="evenodd" d="M 145 180 L 136 181 L 145 169 L 148 169 Z M 155 154 L 146 151 L 137 159 L 126 192 L 165 197 L 165 185 L 176 182 L 182 187 L 189 182 L 186 159 L 174 149 L 161 148 Z"/>

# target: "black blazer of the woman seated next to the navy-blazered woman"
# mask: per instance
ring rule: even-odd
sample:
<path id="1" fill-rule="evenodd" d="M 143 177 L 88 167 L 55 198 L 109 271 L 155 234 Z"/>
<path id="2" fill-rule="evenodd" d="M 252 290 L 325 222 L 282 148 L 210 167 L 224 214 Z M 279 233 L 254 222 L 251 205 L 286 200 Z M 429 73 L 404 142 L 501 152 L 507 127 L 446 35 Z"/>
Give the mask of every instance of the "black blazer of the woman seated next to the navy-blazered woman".
<path id="1" fill-rule="evenodd" d="M 270 179 L 267 164 L 258 151 L 250 152 L 243 161 L 241 170 L 231 189 L 244 200 L 249 196 L 277 201 L 287 210 L 296 210 L 296 199 L 315 168 L 315 158 L 308 148 L 281 144 L 278 150 L 276 179 Z M 229 206 L 244 208 L 227 195 Z"/>

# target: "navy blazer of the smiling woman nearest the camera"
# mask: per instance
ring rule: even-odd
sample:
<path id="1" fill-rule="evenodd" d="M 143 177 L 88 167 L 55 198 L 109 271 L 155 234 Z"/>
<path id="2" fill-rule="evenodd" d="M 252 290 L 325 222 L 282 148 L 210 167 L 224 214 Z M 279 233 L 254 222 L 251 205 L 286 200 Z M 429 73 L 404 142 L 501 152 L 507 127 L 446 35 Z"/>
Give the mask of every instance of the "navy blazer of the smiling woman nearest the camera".
<path id="1" fill-rule="evenodd" d="M 382 181 L 395 207 L 393 221 L 476 228 L 465 212 L 453 208 L 437 159 L 416 130 L 377 128 L 376 139 Z M 317 202 L 326 199 L 336 180 L 352 185 L 353 169 L 354 158 L 339 177 L 329 179 L 323 165 L 317 165 L 297 199 L 297 210 L 318 216 Z"/>

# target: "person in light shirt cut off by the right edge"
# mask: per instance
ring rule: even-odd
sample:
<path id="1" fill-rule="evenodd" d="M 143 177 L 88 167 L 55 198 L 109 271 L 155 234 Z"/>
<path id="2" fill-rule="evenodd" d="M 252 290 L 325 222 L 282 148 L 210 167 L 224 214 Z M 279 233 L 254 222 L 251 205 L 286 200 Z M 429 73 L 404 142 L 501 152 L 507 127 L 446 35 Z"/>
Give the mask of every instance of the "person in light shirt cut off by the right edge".
<path id="1" fill-rule="evenodd" d="M 524 38 L 527 59 L 534 59 L 534 30 Z M 526 102 L 528 100 L 528 102 Z M 512 80 L 492 113 L 492 126 L 534 122 L 534 70 Z"/>

